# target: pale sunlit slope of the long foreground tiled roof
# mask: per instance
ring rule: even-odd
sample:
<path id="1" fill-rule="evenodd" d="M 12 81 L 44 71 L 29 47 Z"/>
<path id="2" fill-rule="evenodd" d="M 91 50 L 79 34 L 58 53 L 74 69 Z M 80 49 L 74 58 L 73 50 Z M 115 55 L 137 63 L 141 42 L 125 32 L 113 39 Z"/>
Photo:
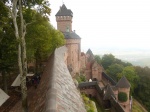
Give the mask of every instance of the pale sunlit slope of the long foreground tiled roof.
<path id="1" fill-rule="evenodd" d="M 46 112 L 86 112 L 79 91 L 64 62 L 65 47 L 56 49 Z"/>

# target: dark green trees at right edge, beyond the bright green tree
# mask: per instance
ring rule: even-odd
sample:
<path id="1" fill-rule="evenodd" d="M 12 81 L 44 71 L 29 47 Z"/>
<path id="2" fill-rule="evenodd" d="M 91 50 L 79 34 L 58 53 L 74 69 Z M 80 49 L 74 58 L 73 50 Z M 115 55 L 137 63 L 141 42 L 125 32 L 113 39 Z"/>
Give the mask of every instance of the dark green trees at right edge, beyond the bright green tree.
<path id="1" fill-rule="evenodd" d="M 137 87 L 134 90 L 134 96 L 150 111 L 150 68 L 139 66 L 134 68 L 139 76 L 139 81 L 136 83 Z"/>

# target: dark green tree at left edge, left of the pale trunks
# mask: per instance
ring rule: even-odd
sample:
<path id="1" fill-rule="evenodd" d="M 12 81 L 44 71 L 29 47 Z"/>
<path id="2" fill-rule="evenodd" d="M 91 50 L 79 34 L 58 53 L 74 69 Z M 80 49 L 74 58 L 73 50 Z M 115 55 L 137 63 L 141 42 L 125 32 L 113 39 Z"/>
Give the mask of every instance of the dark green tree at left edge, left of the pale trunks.
<path id="1" fill-rule="evenodd" d="M 9 16 L 9 10 L 2 2 L 0 2 L 0 29 L 0 71 L 3 89 L 7 93 L 7 75 L 16 65 L 17 51 L 12 19 Z"/>

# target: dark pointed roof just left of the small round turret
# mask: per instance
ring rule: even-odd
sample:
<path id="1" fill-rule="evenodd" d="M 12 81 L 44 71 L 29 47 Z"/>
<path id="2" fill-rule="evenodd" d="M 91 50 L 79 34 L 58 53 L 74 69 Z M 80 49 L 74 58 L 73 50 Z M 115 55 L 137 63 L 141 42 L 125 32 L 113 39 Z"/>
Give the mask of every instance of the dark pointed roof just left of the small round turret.
<path id="1" fill-rule="evenodd" d="M 111 98 L 111 96 L 115 97 L 114 92 L 112 90 L 112 88 L 110 87 L 110 85 L 107 85 L 107 89 L 106 89 L 106 93 L 104 95 L 103 100 L 109 100 Z"/>

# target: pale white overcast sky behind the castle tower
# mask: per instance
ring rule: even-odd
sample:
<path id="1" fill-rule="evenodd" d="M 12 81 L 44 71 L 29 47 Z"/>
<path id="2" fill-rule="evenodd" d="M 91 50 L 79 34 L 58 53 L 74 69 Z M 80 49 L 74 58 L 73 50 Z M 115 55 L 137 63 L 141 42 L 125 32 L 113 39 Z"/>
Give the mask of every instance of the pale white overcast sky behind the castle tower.
<path id="1" fill-rule="evenodd" d="M 62 3 L 73 12 L 81 51 L 150 55 L 150 0 L 50 0 L 50 21 Z"/>

